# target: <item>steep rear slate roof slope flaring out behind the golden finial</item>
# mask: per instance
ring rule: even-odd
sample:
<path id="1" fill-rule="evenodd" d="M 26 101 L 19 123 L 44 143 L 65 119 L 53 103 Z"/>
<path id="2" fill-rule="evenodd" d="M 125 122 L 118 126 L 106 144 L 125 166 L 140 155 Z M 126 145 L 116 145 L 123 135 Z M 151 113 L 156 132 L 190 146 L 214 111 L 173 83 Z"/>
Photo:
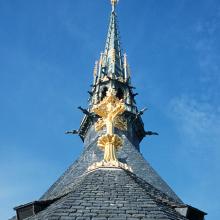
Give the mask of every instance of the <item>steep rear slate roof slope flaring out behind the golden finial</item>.
<path id="1" fill-rule="evenodd" d="M 69 169 L 50 187 L 50 189 L 42 196 L 42 200 L 50 200 L 62 196 L 68 191 L 69 186 L 73 182 L 78 181 L 78 177 L 86 172 L 88 167 L 94 162 L 103 159 L 103 151 L 97 147 L 97 138 L 100 133 L 94 129 L 90 129 L 85 140 L 85 149 L 78 160 L 76 160 Z M 158 190 L 167 194 L 169 197 L 182 203 L 179 197 L 172 191 L 168 184 L 157 174 L 157 172 L 144 159 L 139 149 L 130 142 L 127 134 L 120 134 L 124 139 L 124 145 L 118 152 L 118 158 L 122 162 L 126 162 L 135 175 L 144 179 Z"/>

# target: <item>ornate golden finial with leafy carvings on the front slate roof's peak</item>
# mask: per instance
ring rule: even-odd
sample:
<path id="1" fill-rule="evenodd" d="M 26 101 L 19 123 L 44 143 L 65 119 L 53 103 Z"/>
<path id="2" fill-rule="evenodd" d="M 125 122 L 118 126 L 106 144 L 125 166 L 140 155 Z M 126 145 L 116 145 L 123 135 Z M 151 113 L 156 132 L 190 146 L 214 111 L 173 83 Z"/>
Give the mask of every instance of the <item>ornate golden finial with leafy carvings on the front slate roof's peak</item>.
<path id="1" fill-rule="evenodd" d="M 119 162 L 116 156 L 116 151 L 123 145 L 123 139 L 114 133 L 114 128 L 127 130 L 127 123 L 121 117 L 125 109 L 123 100 L 116 97 L 116 91 L 112 88 L 108 90 L 106 97 L 92 109 L 94 113 L 100 116 L 95 124 L 96 131 L 101 131 L 106 127 L 106 134 L 99 137 L 97 143 L 104 150 L 104 159 L 90 166 L 89 170 L 113 167 L 132 171 L 127 164 Z"/>

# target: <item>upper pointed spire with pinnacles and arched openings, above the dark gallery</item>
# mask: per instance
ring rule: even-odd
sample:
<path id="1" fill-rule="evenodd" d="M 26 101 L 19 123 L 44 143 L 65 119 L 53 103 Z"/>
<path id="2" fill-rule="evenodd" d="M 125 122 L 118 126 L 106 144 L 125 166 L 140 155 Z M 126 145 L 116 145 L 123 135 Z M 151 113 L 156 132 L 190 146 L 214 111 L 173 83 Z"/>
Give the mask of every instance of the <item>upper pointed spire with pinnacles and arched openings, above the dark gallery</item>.
<path id="1" fill-rule="evenodd" d="M 135 94 L 131 86 L 131 73 L 127 60 L 127 55 L 122 55 L 116 5 L 118 0 L 110 0 L 112 10 L 105 44 L 105 50 L 101 53 L 100 59 L 95 66 L 94 81 L 90 92 L 89 109 L 92 110 L 106 96 L 108 89 L 117 91 L 117 98 L 124 99 L 126 110 L 134 114 L 137 113 Z"/>

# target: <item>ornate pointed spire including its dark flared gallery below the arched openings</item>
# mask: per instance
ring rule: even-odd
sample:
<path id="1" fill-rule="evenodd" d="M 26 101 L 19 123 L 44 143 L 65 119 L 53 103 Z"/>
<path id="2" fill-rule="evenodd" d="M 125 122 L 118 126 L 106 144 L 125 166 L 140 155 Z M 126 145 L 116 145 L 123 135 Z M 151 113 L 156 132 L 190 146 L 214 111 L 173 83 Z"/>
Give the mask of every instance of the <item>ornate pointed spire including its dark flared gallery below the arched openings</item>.
<path id="1" fill-rule="evenodd" d="M 112 10 L 110 13 L 110 22 L 108 34 L 105 44 L 105 50 L 101 53 L 99 61 L 96 62 L 93 71 L 94 81 L 89 91 L 89 106 L 86 115 L 80 125 L 79 134 L 84 140 L 87 131 L 95 124 L 98 117 L 93 111 L 94 106 L 102 103 L 107 96 L 107 92 L 114 90 L 116 97 L 125 104 L 124 115 L 129 118 L 131 130 L 137 127 L 138 139 L 145 136 L 144 125 L 138 113 L 135 97 L 138 93 L 134 93 L 134 87 L 131 85 L 131 71 L 129 68 L 127 55 L 122 55 L 121 44 L 118 30 L 116 6 L 118 0 L 111 0 Z M 126 119 L 127 120 L 127 119 Z"/>

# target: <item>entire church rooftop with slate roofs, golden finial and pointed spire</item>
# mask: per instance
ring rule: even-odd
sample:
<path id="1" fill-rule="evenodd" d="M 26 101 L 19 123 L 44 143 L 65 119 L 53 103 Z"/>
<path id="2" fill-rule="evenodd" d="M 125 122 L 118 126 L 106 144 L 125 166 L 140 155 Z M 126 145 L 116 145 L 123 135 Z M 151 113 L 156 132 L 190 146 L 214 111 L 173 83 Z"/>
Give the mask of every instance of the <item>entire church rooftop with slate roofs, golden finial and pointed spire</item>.
<path id="1" fill-rule="evenodd" d="M 88 0 L 90 1 L 90 0 Z M 127 56 L 122 56 L 116 6 L 105 50 L 79 129 L 81 156 L 38 201 L 15 208 L 11 220 L 203 220 L 206 213 L 184 204 L 140 152 L 146 131 L 131 86 Z"/>

